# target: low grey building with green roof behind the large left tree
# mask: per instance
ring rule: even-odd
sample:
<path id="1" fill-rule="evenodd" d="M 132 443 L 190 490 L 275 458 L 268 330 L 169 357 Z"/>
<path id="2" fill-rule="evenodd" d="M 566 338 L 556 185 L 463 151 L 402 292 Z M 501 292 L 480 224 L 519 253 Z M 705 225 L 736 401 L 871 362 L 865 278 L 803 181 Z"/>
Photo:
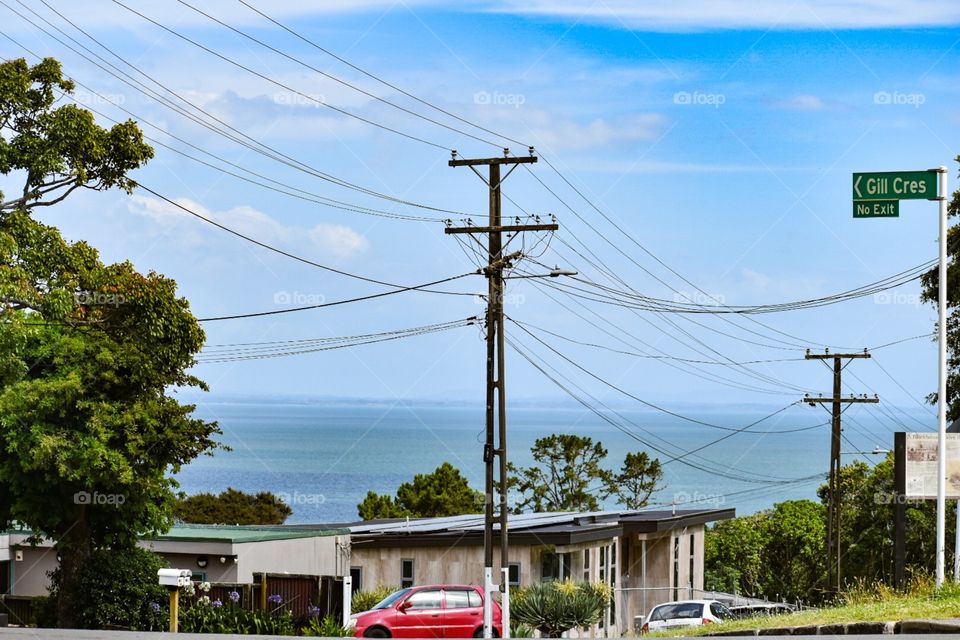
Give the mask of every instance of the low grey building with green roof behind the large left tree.
<path id="1" fill-rule="evenodd" d="M 49 540 L 29 544 L 31 535 L 0 533 L 0 594 L 46 595 L 57 555 Z M 348 529 L 184 525 L 139 544 L 209 582 L 249 584 L 259 573 L 345 576 L 350 566 Z"/>

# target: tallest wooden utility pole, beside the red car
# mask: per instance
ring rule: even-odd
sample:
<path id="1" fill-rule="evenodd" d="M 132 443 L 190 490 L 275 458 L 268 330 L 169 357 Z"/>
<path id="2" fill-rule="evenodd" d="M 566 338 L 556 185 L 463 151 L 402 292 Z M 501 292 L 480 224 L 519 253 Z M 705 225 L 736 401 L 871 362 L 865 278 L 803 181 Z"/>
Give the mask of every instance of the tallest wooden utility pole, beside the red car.
<path id="1" fill-rule="evenodd" d="M 503 150 L 501 158 L 457 159 L 457 152 L 452 152 L 449 165 L 451 167 L 470 167 L 483 180 L 490 190 L 490 216 L 486 227 L 450 227 L 445 229 L 448 234 L 486 234 L 487 235 L 487 266 L 483 274 L 487 277 L 487 417 L 486 442 L 483 446 L 483 462 L 486 465 L 486 485 L 484 499 L 484 527 L 483 527 L 483 637 L 493 637 L 493 609 L 491 607 L 491 593 L 493 591 L 493 476 L 494 457 L 500 458 L 500 569 L 502 573 L 501 590 L 503 609 L 503 635 L 510 634 L 510 592 L 509 592 L 509 546 L 507 541 L 507 400 L 504 385 L 504 347 L 503 332 L 503 271 L 509 268 L 513 260 L 521 257 L 520 252 L 504 255 L 503 233 L 522 233 L 524 231 L 556 231 L 557 224 L 517 224 L 503 225 L 501 216 L 501 190 L 503 181 L 521 164 L 532 164 L 537 161 L 533 155 L 533 147 L 529 148 L 529 155 L 510 156 L 510 150 Z M 511 165 L 506 175 L 500 175 L 500 168 Z M 476 167 L 487 166 L 489 178 L 485 178 Z M 495 409 L 496 407 L 496 409 Z M 499 432 L 498 442 L 494 442 L 494 423 L 497 423 Z"/>

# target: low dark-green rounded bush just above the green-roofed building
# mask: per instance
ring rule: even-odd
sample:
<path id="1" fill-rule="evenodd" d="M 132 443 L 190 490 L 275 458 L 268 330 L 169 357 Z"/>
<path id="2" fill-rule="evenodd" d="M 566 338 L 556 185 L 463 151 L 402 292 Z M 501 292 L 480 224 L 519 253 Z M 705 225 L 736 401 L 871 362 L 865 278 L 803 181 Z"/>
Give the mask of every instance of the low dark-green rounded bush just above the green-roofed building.
<path id="1" fill-rule="evenodd" d="M 293 510 L 269 491 L 256 495 L 228 488 L 219 495 L 198 493 L 180 498 L 173 517 L 191 524 L 283 524 Z"/>

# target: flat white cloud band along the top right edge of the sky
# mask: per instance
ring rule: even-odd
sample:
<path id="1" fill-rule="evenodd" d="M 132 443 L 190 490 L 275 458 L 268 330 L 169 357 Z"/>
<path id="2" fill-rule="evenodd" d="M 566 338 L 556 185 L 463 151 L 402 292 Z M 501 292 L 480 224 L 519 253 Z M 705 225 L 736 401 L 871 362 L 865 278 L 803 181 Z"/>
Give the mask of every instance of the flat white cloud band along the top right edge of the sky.
<path id="1" fill-rule="evenodd" d="M 491 10 L 631 29 L 873 29 L 960 23 L 955 0 L 501 0 Z"/>

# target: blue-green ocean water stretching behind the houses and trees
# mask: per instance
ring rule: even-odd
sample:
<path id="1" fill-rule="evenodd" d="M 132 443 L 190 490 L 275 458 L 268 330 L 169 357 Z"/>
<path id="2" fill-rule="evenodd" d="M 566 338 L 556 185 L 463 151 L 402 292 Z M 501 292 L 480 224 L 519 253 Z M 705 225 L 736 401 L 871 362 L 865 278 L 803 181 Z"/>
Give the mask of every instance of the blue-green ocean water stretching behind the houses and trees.
<path id="1" fill-rule="evenodd" d="M 773 410 L 688 414 L 736 429 Z M 356 520 L 356 506 L 367 491 L 392 495 L 400 483 L 443 462 L 459 468 L 473 487 L 483 488 L 482 406 L 204 402 L 196 413 L 219 422 L 224 432 L 221 442 L 232 450 L 217 451 L 184 467 L 177 475 L 181 488 L 188 494 L 227 487 L 271 491 L 293 508 L 290 523 Z M 511 408 L 509 459 L 519 466 L 532 464 L 530 447 L 551 433 L 575 433 L 602 442 L 609 451 L 606 466 L 611 469 L 619 467 L 628 451 L 647 451 L 662 462 L 670 460 L 644 442 L 672 456 L 705 447 L 665 464 L 662 487 L 652 502 L 734 507 L 741 515 L 783 500 L 815 498 L 821 480 L 790 481 L 825 475 L 829 468 L 830 430 L 824 424 L 829 416 L 820 408 L 793 407 L 743 433 L 661 413 L 619 413 L 611 419 L 621 422 L 628 433 L 580 408 Z M 893 428 L 870 424 L 868 418 L 861 415 L 858 424 L 845 426 L 845 452 L 892 448 Z M 844 462 L 853 457 L 845 455 Z M 614 508 L 615 503 L 608 501 L 605 506 Z"/>

